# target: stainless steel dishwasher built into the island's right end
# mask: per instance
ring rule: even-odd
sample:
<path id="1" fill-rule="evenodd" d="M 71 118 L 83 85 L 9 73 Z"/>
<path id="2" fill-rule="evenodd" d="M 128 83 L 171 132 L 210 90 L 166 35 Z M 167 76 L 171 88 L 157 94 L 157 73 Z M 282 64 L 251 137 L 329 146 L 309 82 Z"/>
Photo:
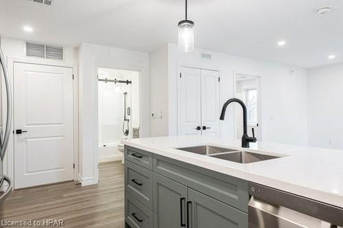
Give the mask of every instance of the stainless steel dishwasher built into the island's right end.
<path id="1" fill-rule="evenodd" d="M 343 208 L 248 183 L 249 228 L 343 227 Z"/>

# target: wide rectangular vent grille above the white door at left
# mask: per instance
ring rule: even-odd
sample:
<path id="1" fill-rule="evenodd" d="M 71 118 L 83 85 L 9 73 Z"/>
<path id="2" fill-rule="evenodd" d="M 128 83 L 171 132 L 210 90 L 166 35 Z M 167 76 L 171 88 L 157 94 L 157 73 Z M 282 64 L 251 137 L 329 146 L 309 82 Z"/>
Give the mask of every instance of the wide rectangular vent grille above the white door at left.
<path id="1" fill-rule="evenodd" d="M 47 60 L 64 60 L 64 50 L 63 47 L 60 46 L 26 42 L 25 53 L 27 57 L 45 58 Z"/>

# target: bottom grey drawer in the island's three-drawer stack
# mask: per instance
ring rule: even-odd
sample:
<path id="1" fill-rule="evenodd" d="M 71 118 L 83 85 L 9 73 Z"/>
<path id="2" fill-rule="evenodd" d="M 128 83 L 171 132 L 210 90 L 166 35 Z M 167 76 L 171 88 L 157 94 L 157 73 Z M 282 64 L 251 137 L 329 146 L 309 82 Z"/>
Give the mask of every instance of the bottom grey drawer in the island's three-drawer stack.
<path id="1" fill-rule="evenodd" d="M 152 211 L 125 192 L 125 222 L 131 228 L 152 228 L 153 219 Z"/>

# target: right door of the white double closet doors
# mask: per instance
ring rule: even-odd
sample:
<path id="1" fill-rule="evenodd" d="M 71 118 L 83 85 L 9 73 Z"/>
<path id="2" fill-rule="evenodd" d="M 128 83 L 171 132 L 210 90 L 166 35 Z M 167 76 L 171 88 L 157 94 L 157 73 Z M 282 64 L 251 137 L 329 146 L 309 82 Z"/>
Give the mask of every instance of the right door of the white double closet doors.
<path id="1" fill-rule="evenodd" d="M 219 72 L 201 70 L 202 134 L 219 136 Z"/>

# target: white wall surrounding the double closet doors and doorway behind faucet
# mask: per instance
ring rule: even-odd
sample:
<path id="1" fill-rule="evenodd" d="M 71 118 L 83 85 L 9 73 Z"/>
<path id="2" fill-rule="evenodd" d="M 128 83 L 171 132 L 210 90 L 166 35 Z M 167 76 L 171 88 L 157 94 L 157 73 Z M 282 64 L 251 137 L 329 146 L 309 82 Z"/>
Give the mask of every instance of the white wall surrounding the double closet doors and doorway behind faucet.
<path id="1" fill-rule="evenodd" d="M 212 60 L 200 60 L 202 51 L 178 51 L 168 44 L 169 135 L 177 134 L 178 65 L 210 66 L 220 69 L 220 104 L 234 96 L 234 72 L 261 76 L 261 129 L 263 141 L 307 144 L 307 71 L 273 62 L 252 60 L 223 53 L 204 51 Z M 290 69 L 294 73 L 290 73 Z M 221 122 L 221 136 L 234 139 L 233 108 Z"/>

